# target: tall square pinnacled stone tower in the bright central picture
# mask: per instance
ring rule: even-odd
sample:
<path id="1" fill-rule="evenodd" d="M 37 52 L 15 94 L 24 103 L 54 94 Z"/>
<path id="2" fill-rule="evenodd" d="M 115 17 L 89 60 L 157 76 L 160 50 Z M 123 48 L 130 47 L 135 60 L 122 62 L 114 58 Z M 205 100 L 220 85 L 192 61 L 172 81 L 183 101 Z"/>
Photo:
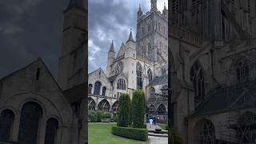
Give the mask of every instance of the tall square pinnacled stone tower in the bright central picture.
<path id="1" fill-rule="evenodd" d="M 144 15 L 139 6 L 136 34 L 137 58 L 147 59 L 150 62 L 161 62 L 162 58 L 167 58 L 167 20 L 166 6 L 161 13 L 157 9 L 157 0 L 151 0 L 151 9 Z"/>

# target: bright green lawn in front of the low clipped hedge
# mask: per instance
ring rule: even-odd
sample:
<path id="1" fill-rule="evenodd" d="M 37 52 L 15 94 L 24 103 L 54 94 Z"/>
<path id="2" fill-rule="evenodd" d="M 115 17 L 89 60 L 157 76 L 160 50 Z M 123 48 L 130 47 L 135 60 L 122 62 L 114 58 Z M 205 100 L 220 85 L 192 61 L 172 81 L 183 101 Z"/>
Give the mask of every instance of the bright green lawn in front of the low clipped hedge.
<path id="1" fill-rule="evenodd" d="M 111 134 L 111 127 L 116 123 L 89 123 L 90 144 L 147 144 L 148 142 L 122 138 Z"/>

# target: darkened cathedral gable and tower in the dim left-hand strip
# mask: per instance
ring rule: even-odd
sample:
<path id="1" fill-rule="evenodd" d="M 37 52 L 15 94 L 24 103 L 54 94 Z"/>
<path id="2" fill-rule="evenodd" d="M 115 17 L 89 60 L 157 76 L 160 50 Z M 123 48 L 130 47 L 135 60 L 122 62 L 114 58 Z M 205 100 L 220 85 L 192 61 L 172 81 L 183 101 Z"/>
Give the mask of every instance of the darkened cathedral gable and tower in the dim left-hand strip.
<path id="1" fill-rule="evenodd" d="M 41 58 L 0 79 L 0 143 L 87 143 L 87 7 L 64 10 L 58 80 Z"/>

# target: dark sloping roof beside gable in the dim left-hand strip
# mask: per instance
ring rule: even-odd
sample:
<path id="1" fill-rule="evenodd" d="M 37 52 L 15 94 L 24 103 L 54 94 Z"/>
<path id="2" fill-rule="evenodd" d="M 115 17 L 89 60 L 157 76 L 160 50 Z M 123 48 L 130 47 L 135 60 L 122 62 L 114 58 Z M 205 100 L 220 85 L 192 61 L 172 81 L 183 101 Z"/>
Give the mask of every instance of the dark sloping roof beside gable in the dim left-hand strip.
<path id="1" fill-rule="evenodd" d="M 82 83 L 78 86 L 70 88 L 69 90 L 63 91 L 63 94 L 70 103 L 77 102 L 81 98 L 86 97 L 86 86 L 86 83 Z"/>

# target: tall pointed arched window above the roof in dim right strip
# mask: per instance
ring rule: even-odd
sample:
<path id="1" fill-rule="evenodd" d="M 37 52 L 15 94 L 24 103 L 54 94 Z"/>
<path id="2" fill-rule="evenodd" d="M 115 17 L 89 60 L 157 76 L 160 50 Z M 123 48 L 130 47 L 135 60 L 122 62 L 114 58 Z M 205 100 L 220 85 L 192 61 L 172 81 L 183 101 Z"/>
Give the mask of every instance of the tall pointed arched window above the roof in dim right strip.
<path id="1" fill-rule="evenodd" d="M 190 69 L 190 80 L 194 84 L 194 102 L 202 102 L 205 96 L 205 78 L 199 62 L 195 62 Z"/>

